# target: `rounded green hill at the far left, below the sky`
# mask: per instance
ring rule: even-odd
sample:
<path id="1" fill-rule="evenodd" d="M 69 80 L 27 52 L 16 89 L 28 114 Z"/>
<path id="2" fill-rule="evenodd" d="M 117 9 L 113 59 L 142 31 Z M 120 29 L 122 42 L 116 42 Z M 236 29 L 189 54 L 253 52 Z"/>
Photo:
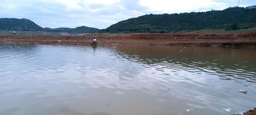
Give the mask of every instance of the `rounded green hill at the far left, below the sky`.
<path id="1" fill-rule="evenodd" d="M 0 30 L 43 31 L 44 28 L 28 19 L 0 18 Z"/>

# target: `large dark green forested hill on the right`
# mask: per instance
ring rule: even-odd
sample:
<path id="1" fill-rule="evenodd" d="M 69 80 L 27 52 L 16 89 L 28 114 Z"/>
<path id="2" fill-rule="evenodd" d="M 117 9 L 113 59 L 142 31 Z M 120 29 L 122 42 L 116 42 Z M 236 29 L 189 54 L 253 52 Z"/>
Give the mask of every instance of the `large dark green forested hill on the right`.
<path id="1" fill-rule="evenodd" d="M 180 14 L 150 14 L 130 18 L 114 24 L 100 32 L 180 32 L 206 28 L 227 29 L 231 24 L 256 25 L 256 6 L 230 7 L 225 10 L 191 12 Z M 247 27 L 246 27 L 247 26 Z"/>

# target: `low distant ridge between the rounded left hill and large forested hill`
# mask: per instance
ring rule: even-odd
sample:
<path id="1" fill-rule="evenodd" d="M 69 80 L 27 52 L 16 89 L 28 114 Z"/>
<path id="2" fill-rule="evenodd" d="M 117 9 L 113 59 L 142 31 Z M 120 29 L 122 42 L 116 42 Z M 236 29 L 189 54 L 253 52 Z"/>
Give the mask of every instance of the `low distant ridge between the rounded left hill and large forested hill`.
<path id="1" fill-rule="evenodd" d="M 69 34 L 80 34 L 80 33 L 97 33 L 99 29 L 97 28 L 90 28 L 86 26 L 80 26 L 76 28 L 44 28 L 46 32 L 66 32 Z"/>

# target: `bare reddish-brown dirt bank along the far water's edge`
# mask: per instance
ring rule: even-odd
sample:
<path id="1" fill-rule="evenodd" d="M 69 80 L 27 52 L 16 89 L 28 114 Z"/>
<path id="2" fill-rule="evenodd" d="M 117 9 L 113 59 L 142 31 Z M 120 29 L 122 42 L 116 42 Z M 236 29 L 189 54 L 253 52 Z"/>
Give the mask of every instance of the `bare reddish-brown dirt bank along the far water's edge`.
<path id="1" fill-rule="evenodd" d="M 85 36 L 0 36 L 0 43 L 90 45 L 255 45 L 256 32 L 225 34 L 91 34 Z"/>

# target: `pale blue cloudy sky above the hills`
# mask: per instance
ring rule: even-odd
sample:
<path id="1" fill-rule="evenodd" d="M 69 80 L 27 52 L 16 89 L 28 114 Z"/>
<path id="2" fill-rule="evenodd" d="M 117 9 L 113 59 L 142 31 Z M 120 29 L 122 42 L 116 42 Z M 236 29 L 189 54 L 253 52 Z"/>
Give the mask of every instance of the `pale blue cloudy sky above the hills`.
<path id="1" fill-rule="evenodd" d="M 240 0 L 240 6 L 256 0 Z M 145 14 L 224 10 L 238 0 L 1 0 L 0 18 L 26 18 L 45 28 L 88 26 L 105 29 Z"/>

